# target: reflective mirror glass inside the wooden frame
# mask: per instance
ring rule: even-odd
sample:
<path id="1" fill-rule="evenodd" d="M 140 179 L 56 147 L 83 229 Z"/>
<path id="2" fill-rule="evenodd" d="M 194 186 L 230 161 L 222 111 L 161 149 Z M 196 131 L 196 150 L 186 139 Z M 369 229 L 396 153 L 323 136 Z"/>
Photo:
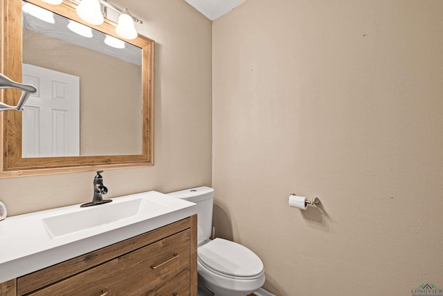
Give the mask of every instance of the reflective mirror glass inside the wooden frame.
<path id="1" fill-rule="evenodd" d="M 141 48 L 22 4 L 22 157 L 141 154 Z"/>

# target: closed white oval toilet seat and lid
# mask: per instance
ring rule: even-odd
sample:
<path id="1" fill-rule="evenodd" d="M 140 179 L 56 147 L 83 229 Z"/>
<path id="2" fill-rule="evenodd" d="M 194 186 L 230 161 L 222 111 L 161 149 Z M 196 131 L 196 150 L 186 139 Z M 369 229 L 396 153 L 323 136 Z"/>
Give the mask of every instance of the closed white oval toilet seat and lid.
<path id="1" fill-rule="evenodd" d="M 250 279 L 263 272 L 263 263 L 254 252 L 223 238 L 201 245 L 197 256 L 202 265 L 225 277 Z"/>

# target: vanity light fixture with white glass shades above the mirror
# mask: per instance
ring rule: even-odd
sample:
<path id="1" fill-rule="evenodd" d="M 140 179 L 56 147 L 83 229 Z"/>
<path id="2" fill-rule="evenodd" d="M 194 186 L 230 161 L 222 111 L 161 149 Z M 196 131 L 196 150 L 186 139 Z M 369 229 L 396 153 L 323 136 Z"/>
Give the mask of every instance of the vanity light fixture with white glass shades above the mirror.
<path id="1" fill-rule="evenodd" d="M 63 0 L 42 0 L 46 3 L 58 5 L 63 2 Z M 102 6 L 110 8 L 120 14 L 118 17 L 118 24 L 116 27 L 116 33 L 118 36 L 125 38 L 127 40 L 135 39 L 138 36 L 134 22 L 138 24 L 143 24 L 143 21 L 134 17 L 127 8 L 121 9 L 114 4 L 111 4 L 105 0 L 65 0 L 71 1 L 77 4 L 77 14 L 78 16 L 91 25 L 100 25 L 105 20 L 102 14 Z"/>

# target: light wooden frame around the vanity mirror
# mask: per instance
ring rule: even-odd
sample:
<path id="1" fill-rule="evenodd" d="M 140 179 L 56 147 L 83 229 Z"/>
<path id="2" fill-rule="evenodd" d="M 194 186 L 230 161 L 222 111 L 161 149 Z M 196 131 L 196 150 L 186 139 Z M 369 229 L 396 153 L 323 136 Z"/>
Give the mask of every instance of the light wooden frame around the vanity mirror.
<path id="1" fill-rule="evenodd" d="M 105 19 L 100 26 L 87 24 L 75 12 L 75 5 L 69 1 L 53 6 L 40 0 L 26 0 L 59 15 L 78 21 L 102 33 L 118 37 L 115 24 Z M 1 0 L 1 65 L 0 71 L 10 79 L 21 82 L 22 71 L 22 28 L 21 0 Z M 120 38 L 120 37 L 118 37 Z M 121 39 L 121 38 L 120 38 Z M 143 129 L 141 155 L 96 155 L 75 157 L 21 157 L 21 112 L 0 112 L 3 117 L 1 129 L 3 162 L 0 177 L 21 175 L 44 175 L 51 173 L 71 173 L 75 171 L 96 171 L 109 168 L 153 166 L 154 151 L 154 41 L 138 35 L 135 40 L 124 40 L 142 49 L 143 71 Z M 1 89 L 1 101 L 16 105 L 21 91 Z"/>

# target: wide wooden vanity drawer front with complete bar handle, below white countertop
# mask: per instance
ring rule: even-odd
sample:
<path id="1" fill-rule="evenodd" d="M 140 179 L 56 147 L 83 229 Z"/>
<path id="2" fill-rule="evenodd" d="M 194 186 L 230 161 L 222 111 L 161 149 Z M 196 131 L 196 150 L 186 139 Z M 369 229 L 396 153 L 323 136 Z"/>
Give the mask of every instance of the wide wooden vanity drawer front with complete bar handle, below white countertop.
<path id="1" fill-rule="evenodd" d="M 187 286 L 183 295 L 189 295 L 189 279 L 190 229 L 186 229 L 30 295 L 161 295 L 156 291 L 177 289 L 181 281 Z"/>

